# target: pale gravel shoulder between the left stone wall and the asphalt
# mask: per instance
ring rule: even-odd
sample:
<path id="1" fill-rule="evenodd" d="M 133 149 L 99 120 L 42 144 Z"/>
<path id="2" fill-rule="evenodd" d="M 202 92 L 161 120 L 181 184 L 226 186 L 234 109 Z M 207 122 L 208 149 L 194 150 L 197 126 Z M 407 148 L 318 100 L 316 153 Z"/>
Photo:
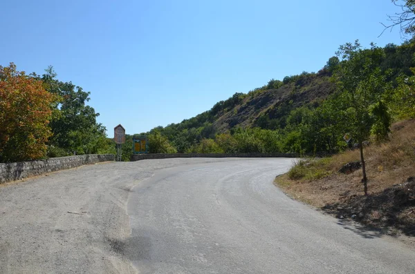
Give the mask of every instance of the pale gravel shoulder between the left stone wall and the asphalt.
<path id="1" fill-rule="evenodd" d="M 111 162 L 0 185 L 0 273 L 139 273 L 127 200 L 157 170 L 238 159 Z"/>

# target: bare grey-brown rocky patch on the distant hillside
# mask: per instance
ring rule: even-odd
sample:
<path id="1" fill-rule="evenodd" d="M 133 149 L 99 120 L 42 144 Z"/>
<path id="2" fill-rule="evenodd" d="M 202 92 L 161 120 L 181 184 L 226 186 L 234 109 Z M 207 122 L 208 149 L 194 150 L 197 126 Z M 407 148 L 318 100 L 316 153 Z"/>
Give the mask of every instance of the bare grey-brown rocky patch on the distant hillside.
<path id="1" fill-rule="evenodd" d="M 213 125 L 220 133 L 238 126 L 284 128 L 291 110 L 318 106 L 333 90 L 327 74 L 303 74 L 279 88 L 248 93 L 238 104 L 215 115 Z"/>

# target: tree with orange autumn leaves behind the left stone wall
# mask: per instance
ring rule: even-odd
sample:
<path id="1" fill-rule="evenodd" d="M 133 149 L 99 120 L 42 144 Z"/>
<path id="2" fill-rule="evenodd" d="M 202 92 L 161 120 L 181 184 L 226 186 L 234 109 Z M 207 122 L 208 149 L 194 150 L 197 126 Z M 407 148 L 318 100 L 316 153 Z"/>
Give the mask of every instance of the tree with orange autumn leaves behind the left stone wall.
<path id="1" fill-rule="evenodd" d="M 0 66 L 0 162 L 46 156 L 55 99 L 42 81 L 17 71 L 14 63 Z"/>

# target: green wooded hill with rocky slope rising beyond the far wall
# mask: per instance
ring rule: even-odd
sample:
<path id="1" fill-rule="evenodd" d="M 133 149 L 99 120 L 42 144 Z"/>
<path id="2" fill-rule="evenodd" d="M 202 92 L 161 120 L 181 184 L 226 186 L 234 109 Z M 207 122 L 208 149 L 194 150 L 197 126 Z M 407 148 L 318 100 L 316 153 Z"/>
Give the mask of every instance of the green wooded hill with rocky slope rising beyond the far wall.
<path id="1" fill-rule="evenodd" d="M 367 116 L 360 126 L 378 139 L 387 135 L 386 124 L 412 115 L 414 52 L 412 41 L 384 48 L 347 43 L 318 72 L 271 79 L 196 117 L 142 135 L 153 153 L 337 153 L 358 142 L 351 121 L 358 108 L 366 108 Z M 411 98 L 406 107 L 403 97 Z M 354 135 L 349 144 L 346 134 Z"/>

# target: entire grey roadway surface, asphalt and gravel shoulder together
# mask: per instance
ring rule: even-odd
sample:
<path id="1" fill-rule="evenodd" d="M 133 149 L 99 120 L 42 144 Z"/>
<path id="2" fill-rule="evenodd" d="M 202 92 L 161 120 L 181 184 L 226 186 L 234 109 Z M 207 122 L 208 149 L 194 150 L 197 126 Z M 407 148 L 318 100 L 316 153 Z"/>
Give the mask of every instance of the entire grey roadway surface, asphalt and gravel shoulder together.
<path id="1" fill-rule="evenodd" d="M 415 273 L 414 248 L 273 186 L 291 163 L 143 160 L 2 184 L 0 273 Z"/>

